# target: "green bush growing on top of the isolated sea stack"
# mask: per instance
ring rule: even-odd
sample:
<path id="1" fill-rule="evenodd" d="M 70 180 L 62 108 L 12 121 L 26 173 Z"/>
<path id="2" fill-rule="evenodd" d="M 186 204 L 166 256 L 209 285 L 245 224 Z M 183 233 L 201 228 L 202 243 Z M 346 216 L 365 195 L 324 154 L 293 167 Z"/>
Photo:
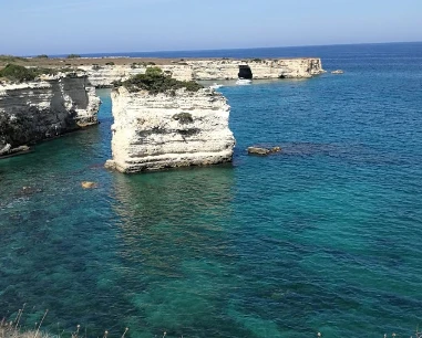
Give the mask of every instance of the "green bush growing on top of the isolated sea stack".
<path id="1" fill-rule="evenodd" d="M 195 81 L 178 81 L 163 73 L 158 67 L 146 68 L 145 74 L 137 74 L 124 82 L 114 83 L 114 86 L 127 88 L 130 92 L 147 91 L 150 94 L 172 93 L 176 89 L 186 88 L 188 92 L 197 92 L 203 86 Z"/>

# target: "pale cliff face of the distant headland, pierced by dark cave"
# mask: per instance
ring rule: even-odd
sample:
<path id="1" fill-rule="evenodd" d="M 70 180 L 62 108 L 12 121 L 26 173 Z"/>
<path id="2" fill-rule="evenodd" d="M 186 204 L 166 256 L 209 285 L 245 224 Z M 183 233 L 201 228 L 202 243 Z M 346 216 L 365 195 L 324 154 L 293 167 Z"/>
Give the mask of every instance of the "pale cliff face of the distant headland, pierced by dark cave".
<path id="1" fill-rule="evenodd" d="M 238 78 L 239 67 L 249 66 L 254 78 L 307 78 L 323 73 L 321 60 L 279 59 L 279 60 L 195 60 L 184 61 L 159 67 L 181 81 L 218 81 Z M 132 75 L 143 74 L 145 65 L 81 66 L 96 87 L 110 87 L 114 81 L 125 81 Z"/>

